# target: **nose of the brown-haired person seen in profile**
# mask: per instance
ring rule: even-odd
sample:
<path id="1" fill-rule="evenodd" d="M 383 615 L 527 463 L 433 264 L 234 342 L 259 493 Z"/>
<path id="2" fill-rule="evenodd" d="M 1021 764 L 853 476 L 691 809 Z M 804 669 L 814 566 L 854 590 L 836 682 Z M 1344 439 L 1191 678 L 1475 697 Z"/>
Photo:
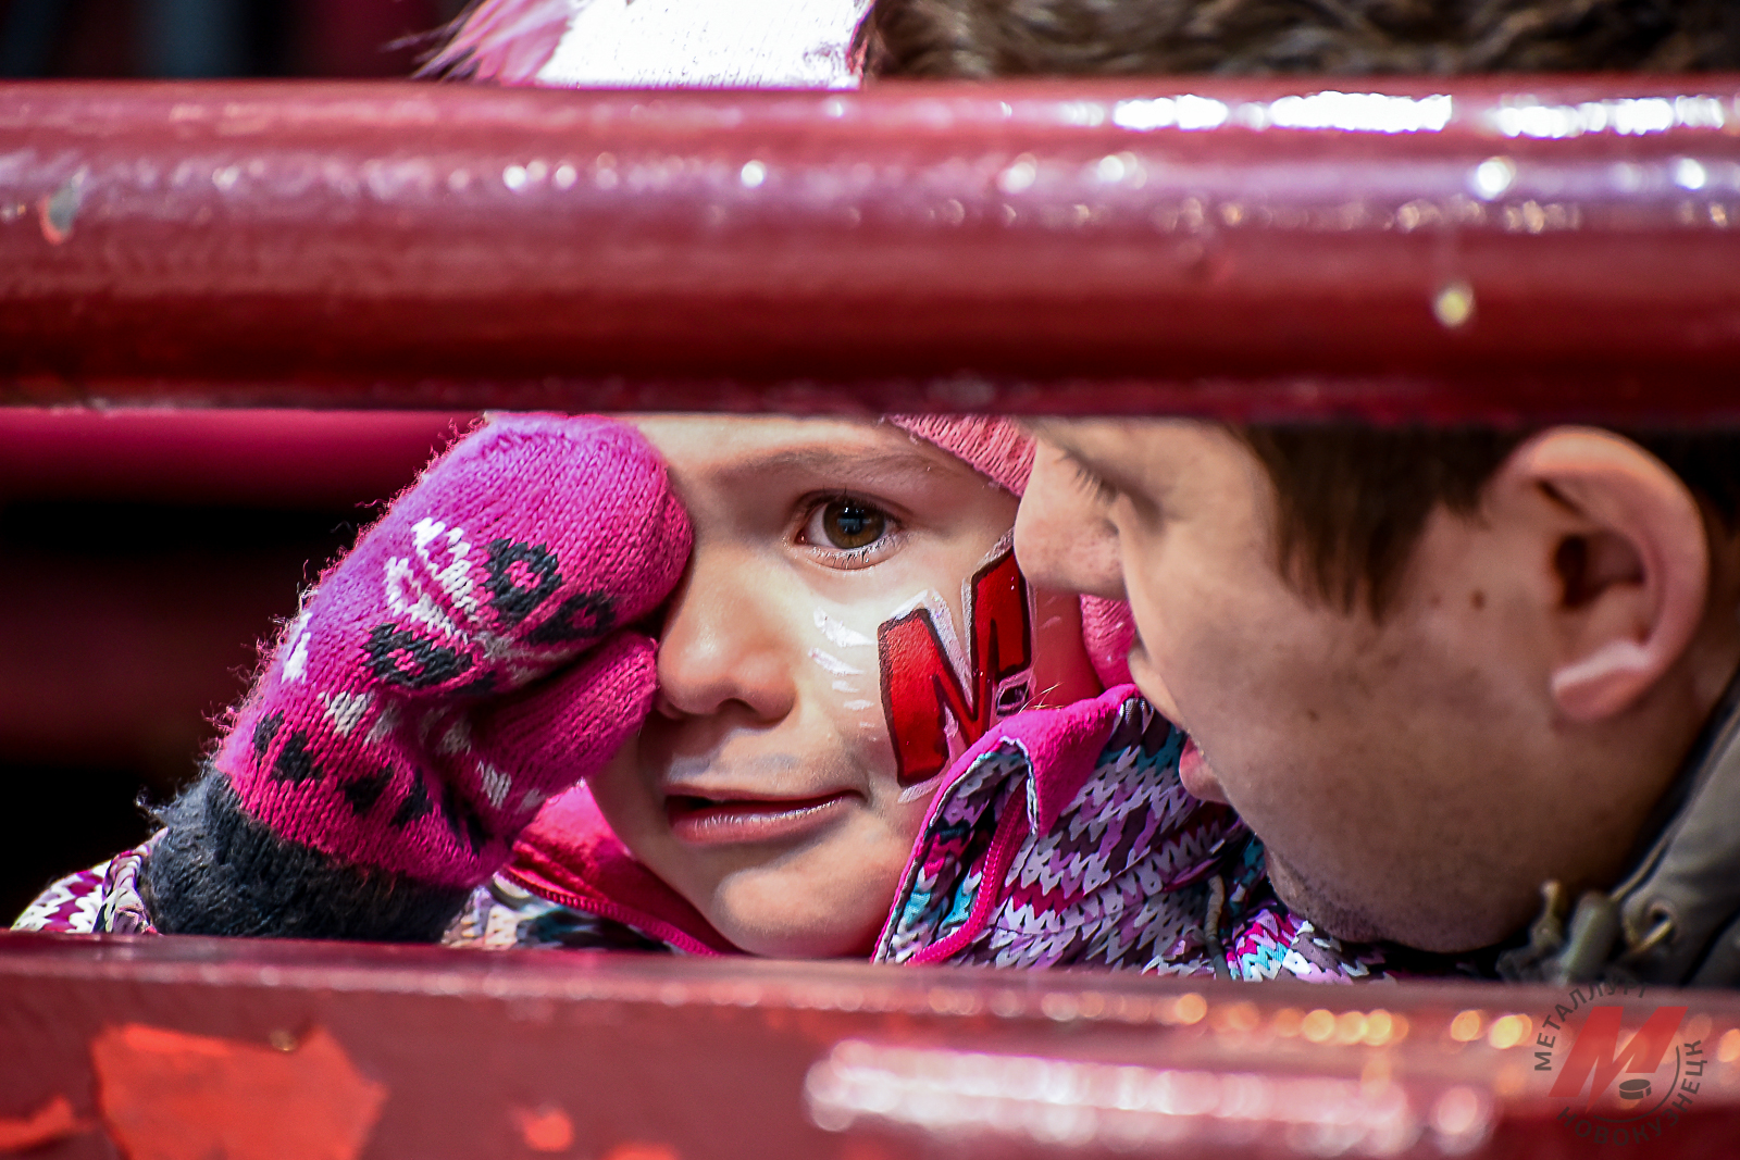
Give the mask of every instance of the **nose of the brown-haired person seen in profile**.
<path id="1" fill-rule="evenodd" d="M 1041 440 L 1014 518 L 1014 557 L 1027 579 L 1039 588 L 1122 600 L 1117 529 L 1105 508 L 1081 485 L 1063 452 Z"/>

